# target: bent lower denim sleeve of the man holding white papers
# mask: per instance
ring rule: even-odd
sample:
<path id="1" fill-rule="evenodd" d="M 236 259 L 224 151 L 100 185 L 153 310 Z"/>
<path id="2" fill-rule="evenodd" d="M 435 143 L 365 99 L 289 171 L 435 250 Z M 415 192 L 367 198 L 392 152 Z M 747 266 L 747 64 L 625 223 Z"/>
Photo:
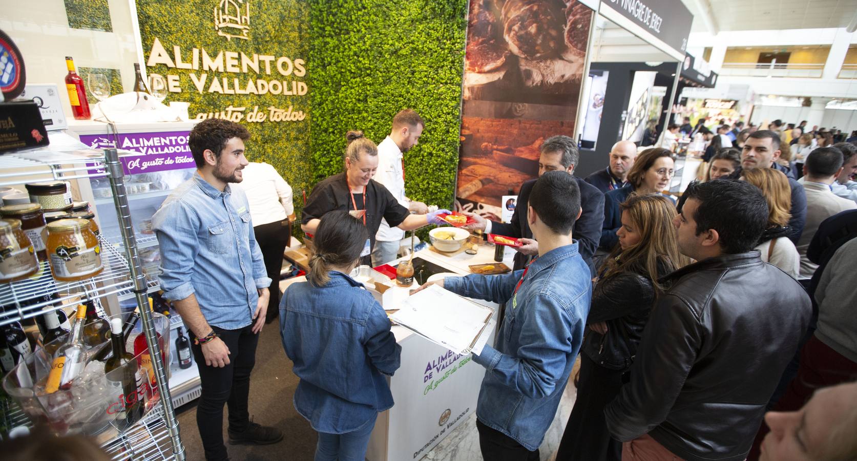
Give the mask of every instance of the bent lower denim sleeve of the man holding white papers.
<path id="1" fill-rule="evenodd" d="M 563 378 L 572 350 L 572 320 L 558 299 L 542 293 L 527 301 L 522 314 L 521 345 L 516 356 L 486 345 L 473 360 L 524 397 L 544 398 Z"/>

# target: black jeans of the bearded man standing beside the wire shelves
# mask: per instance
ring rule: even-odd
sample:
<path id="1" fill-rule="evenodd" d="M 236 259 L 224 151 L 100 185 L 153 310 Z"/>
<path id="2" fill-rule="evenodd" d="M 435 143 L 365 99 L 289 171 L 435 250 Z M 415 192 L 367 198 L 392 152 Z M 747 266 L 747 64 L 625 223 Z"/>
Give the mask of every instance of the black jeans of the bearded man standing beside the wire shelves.
<path id="1" fill-rule="evenodd" d="M 223 330 L 212 326 L 229 348 L 229 365 L 215 368 L 206 365 L 201 345 L 194 344 L 190 332 L 190 350 L 194 352 L 200 370 L 202 393 L 196 407 L 196 425 L 200 428 L 202 446 L 207 461 L 228 458 L 223 444 L 223 404 L 229 406 L 229 428 L 242 432 L 249 424 L 247 399 L 250 393 L 250 372 L 256 361 L 259 335 L 251 331 L 252 324 L 238 330 Z"/>

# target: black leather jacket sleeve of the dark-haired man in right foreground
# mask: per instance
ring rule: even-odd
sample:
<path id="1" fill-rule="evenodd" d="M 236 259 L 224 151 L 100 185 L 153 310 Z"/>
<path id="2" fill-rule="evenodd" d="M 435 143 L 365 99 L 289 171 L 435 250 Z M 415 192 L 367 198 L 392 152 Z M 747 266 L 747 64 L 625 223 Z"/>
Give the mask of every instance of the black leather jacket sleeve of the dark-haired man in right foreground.
<path id="1" fill-rule="evenodd" d="M 634 358 L 631 381 L 604 408 L 607 428 L 616 440 L 636 439 L 667 419 L 702 341 L 698 322 L 679 296 L 665 295 L 656 302 Z"/>

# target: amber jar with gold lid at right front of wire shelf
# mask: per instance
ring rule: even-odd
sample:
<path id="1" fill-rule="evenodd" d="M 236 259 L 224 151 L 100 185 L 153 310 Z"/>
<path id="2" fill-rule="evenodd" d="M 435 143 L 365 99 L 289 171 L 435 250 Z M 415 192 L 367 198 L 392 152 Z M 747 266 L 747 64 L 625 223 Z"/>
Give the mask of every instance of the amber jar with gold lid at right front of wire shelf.
<path id="1" fill-rule="evenodd" d="M 75 282 L 104 270 L 99 239 L 86 219 L 60 219 L 47 226 L 47 251 L 54 278 Z"/>

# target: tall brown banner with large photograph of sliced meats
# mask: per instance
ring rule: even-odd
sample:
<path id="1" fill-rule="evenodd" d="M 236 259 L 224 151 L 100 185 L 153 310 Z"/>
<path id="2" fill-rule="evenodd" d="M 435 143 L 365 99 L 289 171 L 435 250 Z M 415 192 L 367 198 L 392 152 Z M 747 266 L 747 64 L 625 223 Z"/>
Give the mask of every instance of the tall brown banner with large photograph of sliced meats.
<path id="1" fill-rule="evenodd" d="M 576 0 L 471 0 L 458 209 L 500 220 L 542 141 L 573 136 L 592 15 Z"/>

